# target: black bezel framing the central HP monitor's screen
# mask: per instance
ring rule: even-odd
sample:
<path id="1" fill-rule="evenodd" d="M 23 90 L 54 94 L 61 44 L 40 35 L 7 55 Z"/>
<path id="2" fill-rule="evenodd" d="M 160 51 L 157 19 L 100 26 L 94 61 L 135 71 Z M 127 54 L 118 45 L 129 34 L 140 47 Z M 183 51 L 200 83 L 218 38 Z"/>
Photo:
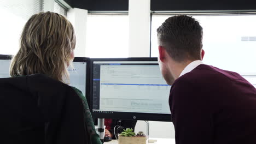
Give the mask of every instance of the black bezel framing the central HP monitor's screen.
<path id="1" fill-rule="evenodd" d="M 92 110 L 92 82 L 94 62 L 98 61 L 158 61 L 158 58 L 151 57 L 135 57 L 135 58 L 91 58 L 91 77 L 90 77 L 90 110 L 94 118 L 113 118 L 113 119 L 133 119 L 143 121 L 162 121 L 171 122 L 171 114 L 159 113 L 135 113 L 135 112 L 114 112 L 114 113 L 98 113 Z"/>

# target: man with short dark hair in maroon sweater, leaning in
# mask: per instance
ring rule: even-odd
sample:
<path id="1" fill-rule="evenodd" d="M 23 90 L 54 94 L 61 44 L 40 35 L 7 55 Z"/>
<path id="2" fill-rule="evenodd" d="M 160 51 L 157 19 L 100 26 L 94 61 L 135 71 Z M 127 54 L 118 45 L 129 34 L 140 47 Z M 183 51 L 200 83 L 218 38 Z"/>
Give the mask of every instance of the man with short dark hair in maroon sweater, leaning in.
<path id="1" fill-rule="evenodd" d="M 199 22 L 172 16 L 157 32 L 176 143 L 256 143 L 256 89 L 237 73 L 202 63 Z"/>

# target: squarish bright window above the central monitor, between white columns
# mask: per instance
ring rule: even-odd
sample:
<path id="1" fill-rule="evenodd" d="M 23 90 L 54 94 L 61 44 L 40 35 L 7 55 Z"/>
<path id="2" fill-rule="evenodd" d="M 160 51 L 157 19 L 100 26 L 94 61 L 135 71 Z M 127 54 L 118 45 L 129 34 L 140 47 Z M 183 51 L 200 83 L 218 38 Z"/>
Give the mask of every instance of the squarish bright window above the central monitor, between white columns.
<path id="1" fill-rule="evenodd" d="M 86 57 L 128 57 L 128 15 L 89 14 L 86 29 Z"/>

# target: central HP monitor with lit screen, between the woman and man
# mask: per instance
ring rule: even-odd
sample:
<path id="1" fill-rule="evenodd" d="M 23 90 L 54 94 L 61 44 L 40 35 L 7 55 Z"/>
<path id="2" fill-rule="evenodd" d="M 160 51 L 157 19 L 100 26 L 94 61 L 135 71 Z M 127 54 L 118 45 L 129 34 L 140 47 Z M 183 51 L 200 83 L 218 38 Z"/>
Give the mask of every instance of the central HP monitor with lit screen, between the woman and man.
<path id="1" fill-rule="evenodd" d="M 93 117 L 171 121 L 157 58 L 92 58 L 91 66 Z"/>

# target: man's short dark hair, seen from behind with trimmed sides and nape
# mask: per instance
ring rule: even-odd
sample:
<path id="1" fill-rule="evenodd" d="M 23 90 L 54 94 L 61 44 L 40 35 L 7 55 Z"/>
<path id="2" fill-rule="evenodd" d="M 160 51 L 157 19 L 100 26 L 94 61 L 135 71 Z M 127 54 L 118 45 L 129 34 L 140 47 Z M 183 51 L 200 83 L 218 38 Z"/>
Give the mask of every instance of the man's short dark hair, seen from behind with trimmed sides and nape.
<path id="1" fill-rule="evenodd" d="M 201 58 L 202 27 L 193 17 L 169 17 L 157 32 L 159 45 L 165 47 L 174 61 L 194 61 Z"/>

